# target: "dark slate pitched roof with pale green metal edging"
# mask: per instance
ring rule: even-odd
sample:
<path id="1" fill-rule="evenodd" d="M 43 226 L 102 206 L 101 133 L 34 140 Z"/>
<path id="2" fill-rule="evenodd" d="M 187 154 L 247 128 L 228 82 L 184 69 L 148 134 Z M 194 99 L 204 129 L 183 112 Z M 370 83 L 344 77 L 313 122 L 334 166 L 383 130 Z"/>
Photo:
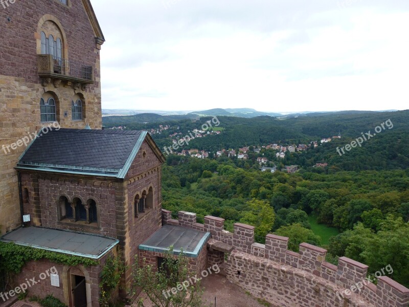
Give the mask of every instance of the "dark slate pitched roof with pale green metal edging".
<path id="1" fill-rule="evenodd" d="M 50 130 L 30 144 L 16 168 L 118 177 L 121 170 L 130 166 L 146 136 L 144 131 Z"/>

